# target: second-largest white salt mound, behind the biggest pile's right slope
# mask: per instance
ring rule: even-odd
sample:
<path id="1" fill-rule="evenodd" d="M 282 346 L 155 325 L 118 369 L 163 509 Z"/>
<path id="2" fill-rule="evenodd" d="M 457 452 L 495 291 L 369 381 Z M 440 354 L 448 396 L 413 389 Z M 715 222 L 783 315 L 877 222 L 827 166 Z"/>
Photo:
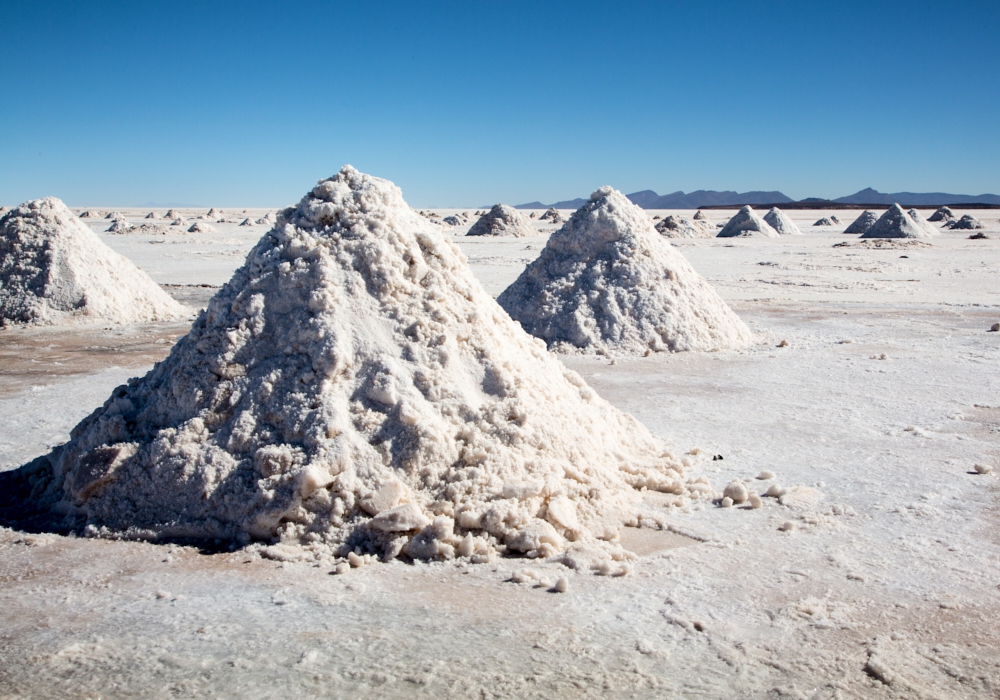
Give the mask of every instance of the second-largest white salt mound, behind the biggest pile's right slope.
<path id="1" fill-rule="evenodd" d="M 550 349 L 737 348 L 750 330 L 625 195 L 602 187 L 497 301 Z"/>

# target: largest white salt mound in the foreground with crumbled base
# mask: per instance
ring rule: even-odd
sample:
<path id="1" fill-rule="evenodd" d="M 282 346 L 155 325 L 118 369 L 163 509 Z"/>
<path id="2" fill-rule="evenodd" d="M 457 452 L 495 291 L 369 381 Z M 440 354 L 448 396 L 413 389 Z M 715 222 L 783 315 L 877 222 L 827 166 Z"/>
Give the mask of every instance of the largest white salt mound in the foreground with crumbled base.
<path id="1" fill-rule="evenodd" d="M 350 166 L 281 212 L 166 360 L 22 472 L 95 534 L 319 558 L 576 551 L 635 522 L 637 488 L 712 496 L 395 185 Z"/>

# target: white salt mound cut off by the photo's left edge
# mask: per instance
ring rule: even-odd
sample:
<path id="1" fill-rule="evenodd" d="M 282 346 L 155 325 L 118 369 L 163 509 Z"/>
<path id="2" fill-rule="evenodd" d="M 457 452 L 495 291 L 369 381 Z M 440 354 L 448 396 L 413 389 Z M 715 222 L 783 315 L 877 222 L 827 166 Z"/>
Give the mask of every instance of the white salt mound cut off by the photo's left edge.
<path id="1" fill-rule="evenodd" d="M 125 324 L 187 313 L 55 197 L 0 218 L 0 325 Z"/>

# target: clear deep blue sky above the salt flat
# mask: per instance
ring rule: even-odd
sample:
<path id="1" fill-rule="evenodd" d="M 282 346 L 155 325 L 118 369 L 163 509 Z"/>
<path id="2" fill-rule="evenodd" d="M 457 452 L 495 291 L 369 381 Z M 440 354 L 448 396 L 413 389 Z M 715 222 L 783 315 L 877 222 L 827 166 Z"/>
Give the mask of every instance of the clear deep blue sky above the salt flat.
<path id="1" fill-rule="evenodd" d="M 1000 192 L 1000 2 L 0 0 L 0 203 Z"/>

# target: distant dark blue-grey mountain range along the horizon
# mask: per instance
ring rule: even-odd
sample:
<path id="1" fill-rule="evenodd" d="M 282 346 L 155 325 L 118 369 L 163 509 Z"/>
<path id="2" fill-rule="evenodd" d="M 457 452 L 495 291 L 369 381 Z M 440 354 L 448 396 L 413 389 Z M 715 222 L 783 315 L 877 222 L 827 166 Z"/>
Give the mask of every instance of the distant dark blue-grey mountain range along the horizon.
<path id="1" fill-rule="evenodd" d="M 781 192 L 716 192 L 715 190 L 697 190 L 695 192 L 677 191 L 671 194 L 656 194 L 653 190 L 642 190 L 625 195 L 643 209 L 698 209 L 699 207 L 743 206 L 744 204 L 819 204 L 832 202 L 836 204 L 899 204 L 942 206 L 944 204 L 996 204 L 1000 205 L 1000 195 L 995 194 L 947 194 L 945 192 L 893 192 L 885 193 L 866 187 L 859 192 L 838 199 L 821 199 L 810 197 L 796 202 Z M 567 199 L 554 204 L 528 202 L 518 204 L 515 209 L 579 209 L 587 203 L 586 199 Z"/>

